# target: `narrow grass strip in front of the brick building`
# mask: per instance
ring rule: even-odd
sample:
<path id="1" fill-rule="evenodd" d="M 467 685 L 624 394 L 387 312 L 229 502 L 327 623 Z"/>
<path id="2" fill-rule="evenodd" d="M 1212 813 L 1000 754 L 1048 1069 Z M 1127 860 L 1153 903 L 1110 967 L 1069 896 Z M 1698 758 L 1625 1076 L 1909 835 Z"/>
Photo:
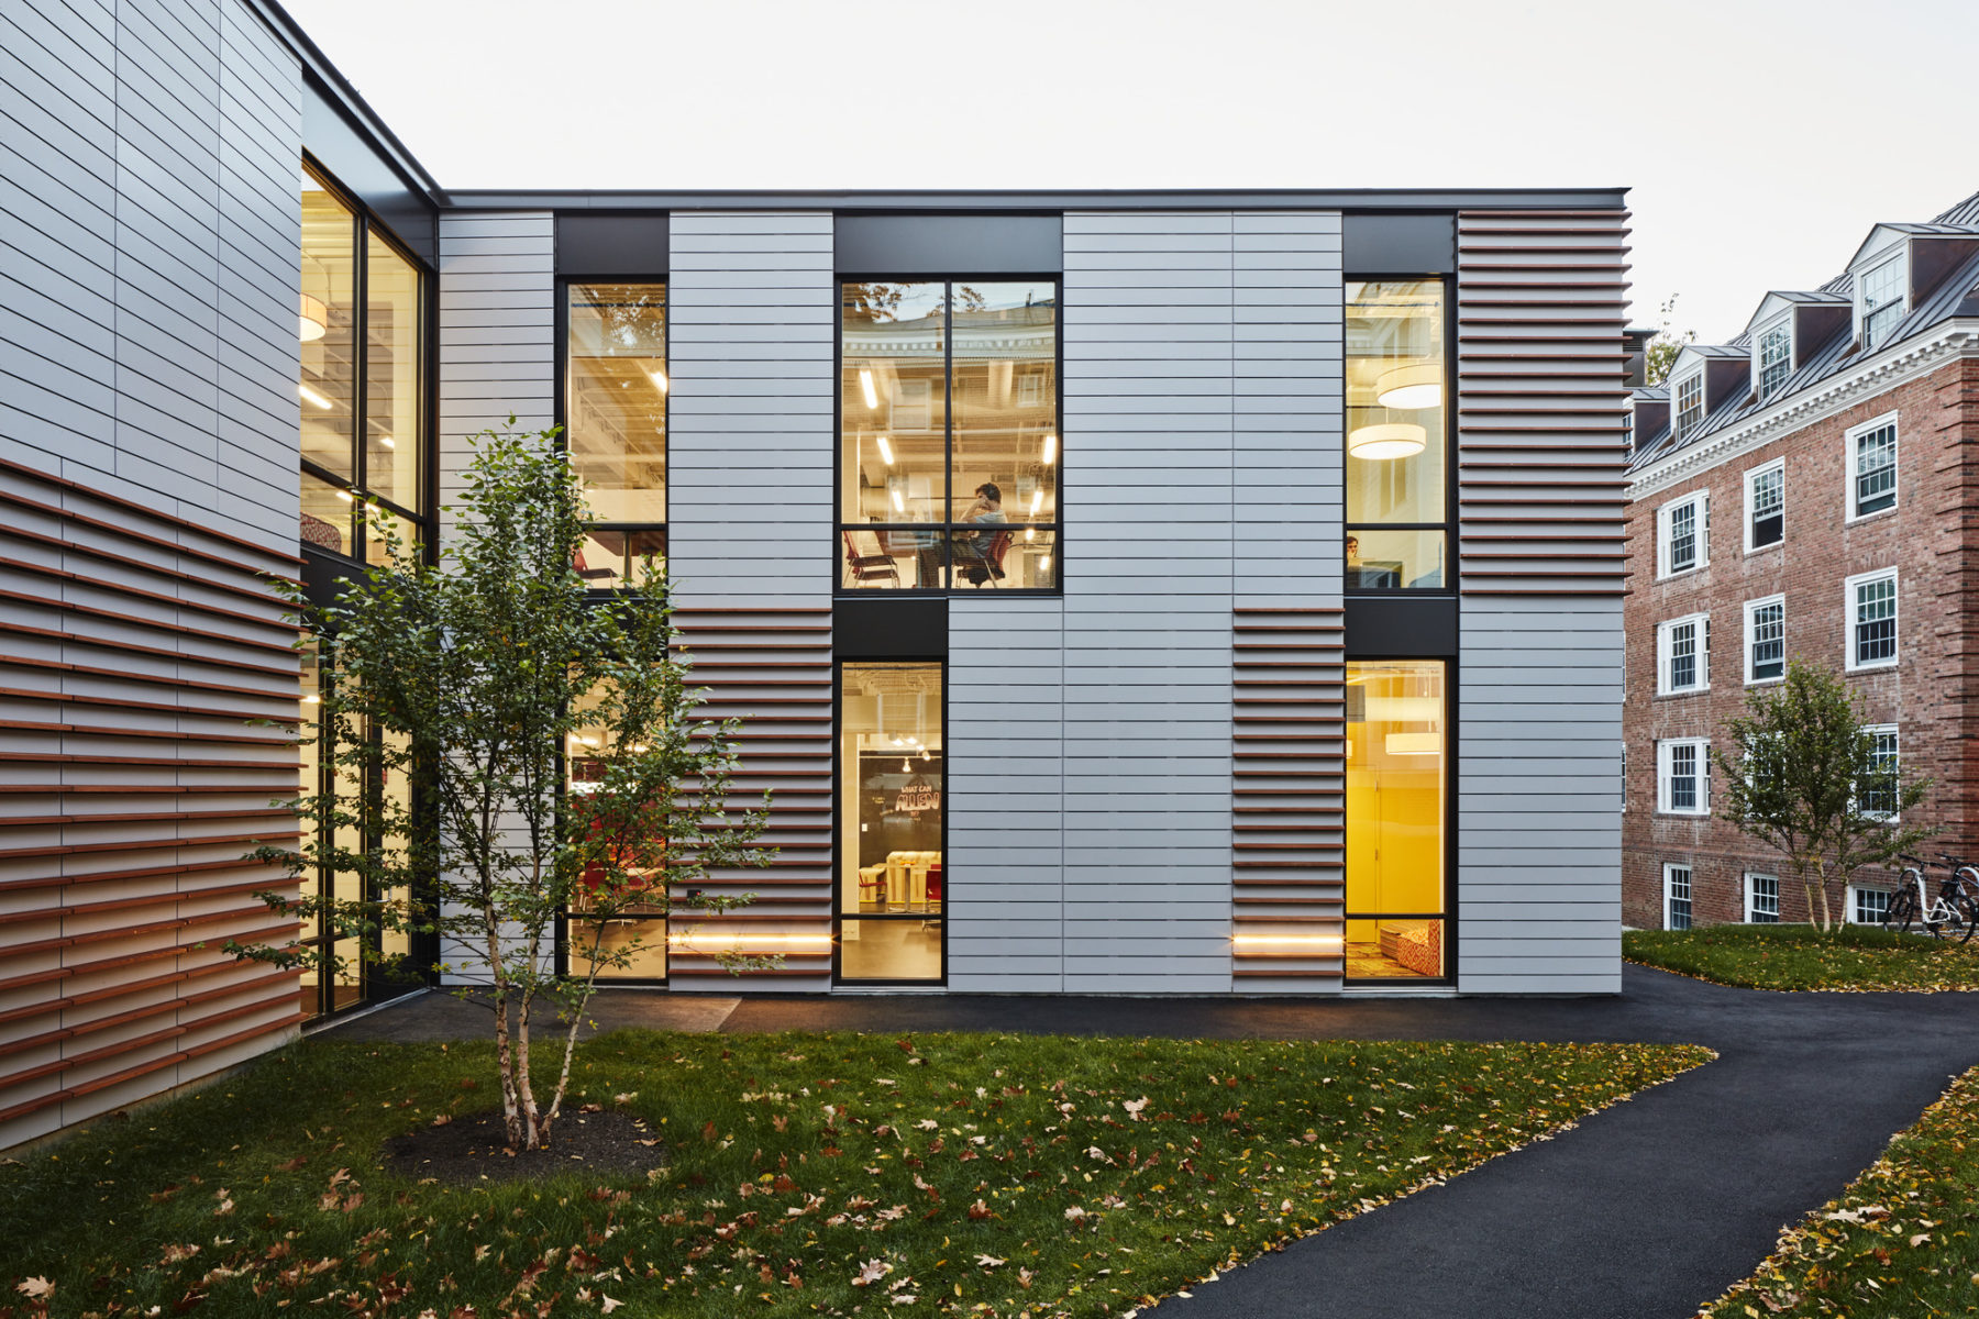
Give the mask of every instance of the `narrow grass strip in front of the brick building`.
<path id="1" fill-rule="evenodd" d="M 1621 955 L 1747 989 L 1979 989 L 1979 939 L 1967 945 L 1874 925 L 1706 925 L 1627 929 Z"/>

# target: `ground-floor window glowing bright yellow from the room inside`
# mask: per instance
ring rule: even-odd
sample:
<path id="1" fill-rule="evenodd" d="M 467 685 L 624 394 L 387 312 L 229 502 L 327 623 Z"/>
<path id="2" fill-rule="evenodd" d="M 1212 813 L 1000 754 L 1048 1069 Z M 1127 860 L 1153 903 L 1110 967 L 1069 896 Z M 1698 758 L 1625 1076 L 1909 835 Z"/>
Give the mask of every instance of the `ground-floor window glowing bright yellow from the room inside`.
<path id="1" fill-rule="evenodd" d="M 1348 979 L 1447 975 L 1443 682 L 1443 660 L 1348 662 Z"/>

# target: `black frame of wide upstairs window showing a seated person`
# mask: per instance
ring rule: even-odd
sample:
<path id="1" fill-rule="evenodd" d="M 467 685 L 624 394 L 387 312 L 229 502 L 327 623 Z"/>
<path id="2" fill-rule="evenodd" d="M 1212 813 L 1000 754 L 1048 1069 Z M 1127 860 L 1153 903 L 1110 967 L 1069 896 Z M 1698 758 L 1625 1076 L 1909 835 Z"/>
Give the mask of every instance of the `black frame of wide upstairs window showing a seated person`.
<path id="1" fill-rule="evenodd" d="M 1053 295 L 1053 332 L 1051 332 L 1051 386 L 1053 386 L 1053 419 L 1057 421 L 1059 435 L 1059 455 L 1053 467 L 1057 469 L 1053 486 L 1053 506 L 1055 514 L 1051 522 L 1005 522 L 1003 526 L 1031 528 L 1051 534 L 1051 558 L 1053 573 L 1051 585 L 1035 587 L 1013 587 L 1013 585 L 954 585 L 954 544 L 956 532 L 962 530 L 982 530 L 984 524 L 970 522 L 847 522 L 843 500 L 843 481 L 845 481 L 845 285 L 851 283 L 885 283 L 885 285 L 946 285 L 946 297 L 942 301 L 942 378 L 946 384 L 946 405 L 942 407 L 942 490 L 948 496 L 944 508 L 954 508 L 954 492 L 948 488 L 954 481 L 956 471 L 956 336 L 952 326 L 954 316 L 954 287 L 962 283 L 984 283 L 984 285 L 1015 285 L 1015 283 L 1049 283 L 1055 289 Z M 671 320 L 669 320 L 671 326 Z M 857 271 L 839 271 L 833 275 L 831 283 L 831 593 L 835 597 L 853 599 L 885 599 L 885 597 L 976 597 L 976 595 L 1011 595 L 1017 599 L 1039 599 L 1039 597 L 1059 597 L 1065 595 L 1065 273 L 1049 271 L 1035 275 L 1021 275 L 999 271 L 991 275 L 968 275 L 968 273 L 942 273 L 942 275 L 863 275 Z M 940 572 L 948 577 L 950 585 L 938 587 L 859 587 L 847 585 L 847 536 L 851 532 L 877 532 L 881 536 L 889 532 L 918 532 L 934 534 L 942 548 Z M 946 659 L 942 664 L 946 666 Z M 946 692 L 946 668 L 944 668 L 944 688 Z M 946 718 L 946 716 L 944 716 Z M 944 734 L 946 736 L 946 734 Z M 944 817 L 946 819 L 946 817 Z M 946 939 L 946 923 L 942 927 L 942 937 Z M 946 947 L 946 943 L 944 943 Z M 946 975 L 946 967 L 944 967 Z M 924 983 L 924 981 L 912 981 Z"/>

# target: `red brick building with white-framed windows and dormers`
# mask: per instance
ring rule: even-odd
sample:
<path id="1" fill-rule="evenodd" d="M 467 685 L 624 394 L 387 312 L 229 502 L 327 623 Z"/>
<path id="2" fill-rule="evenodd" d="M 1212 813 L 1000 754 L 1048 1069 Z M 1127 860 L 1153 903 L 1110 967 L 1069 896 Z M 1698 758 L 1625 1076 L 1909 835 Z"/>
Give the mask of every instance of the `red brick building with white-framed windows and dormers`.
<path id="1" fill-rule="evenodd" d="M 1712 817 L 1710 749 L 1789 657 L 1842 672 L 1878 749 L 1935 779 L 1941 850 L 1979 803 L 1979 196 L 1876 225 L 1813 293 L 1633 394 L 1623 920 L 1807 920 L 1781 858 Z M 1876 920 L 1860 874 L 1850 920 Z"/>

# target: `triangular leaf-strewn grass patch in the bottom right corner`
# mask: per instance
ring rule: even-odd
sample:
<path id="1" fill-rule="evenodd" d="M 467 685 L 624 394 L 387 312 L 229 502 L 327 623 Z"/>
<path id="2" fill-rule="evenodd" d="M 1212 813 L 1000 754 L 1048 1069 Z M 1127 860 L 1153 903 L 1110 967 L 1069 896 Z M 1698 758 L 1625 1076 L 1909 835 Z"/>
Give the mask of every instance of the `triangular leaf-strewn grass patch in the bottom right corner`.
<path id="1" fill-rule="evenodd" d="M 1710 1319 L 1979 1313 L 1979 1068 L 1840 1198 L 1787 1228 L 1759 1272 Z"/>

